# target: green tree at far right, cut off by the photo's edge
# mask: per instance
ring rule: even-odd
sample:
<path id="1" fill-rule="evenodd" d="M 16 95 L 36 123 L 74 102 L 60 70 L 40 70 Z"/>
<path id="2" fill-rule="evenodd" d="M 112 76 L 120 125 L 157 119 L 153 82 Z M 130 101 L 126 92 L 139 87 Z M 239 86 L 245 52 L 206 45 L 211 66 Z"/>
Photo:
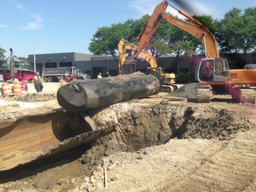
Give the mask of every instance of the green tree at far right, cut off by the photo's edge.
<path id="1" fill-rule="evenodd" d="M 247 52 L 256 49 L 256 7 L 244 12 L 233 8 L 220 21 L 219 28 L 221 50 L 231 53 L 243 51 L 245 64 Z"/>

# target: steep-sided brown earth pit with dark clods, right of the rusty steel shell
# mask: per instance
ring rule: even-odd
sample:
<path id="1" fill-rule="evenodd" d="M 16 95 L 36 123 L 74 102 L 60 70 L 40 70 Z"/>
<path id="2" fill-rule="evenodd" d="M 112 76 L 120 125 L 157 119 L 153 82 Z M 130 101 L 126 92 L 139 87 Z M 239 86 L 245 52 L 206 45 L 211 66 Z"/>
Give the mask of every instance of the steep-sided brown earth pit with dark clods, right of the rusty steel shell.
<path id="1" fill-rule="evenodd" d="M 101 138 L 97 144 L 110 141 L 134 150 L 165 144 L 175 137 L 230 140 L 237 132 L 256 126 L 250 116 L 225 108 L 173 105 L 166 101 L 152 107 L 140 103 L 116 104 L 90 110 L 89 115 L 99 126 L 119 124 L 114 136 Z"/>

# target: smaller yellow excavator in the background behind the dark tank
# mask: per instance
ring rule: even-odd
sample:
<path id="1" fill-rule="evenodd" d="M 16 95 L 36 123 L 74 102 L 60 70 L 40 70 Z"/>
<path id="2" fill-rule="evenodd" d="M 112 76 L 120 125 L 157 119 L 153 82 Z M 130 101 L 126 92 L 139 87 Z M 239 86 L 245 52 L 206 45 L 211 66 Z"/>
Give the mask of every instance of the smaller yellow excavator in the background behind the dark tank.
<path id="1" fill-rule="evenodd" d="M 127 62 L 131 62 L 129 59 L 126 58 L 127 51 L 133 52 L 136 49 L 137 46 L 129 43 L 123 38 L 119 41 L 118 52 L 120 74 L 131 74 L 136 71 L 135 65 L 126 64 Z M 145 50 L 141 50 L 139 57 L 143 60 L 146 60 L 150 64 L 150 67 L 148 67 L 147 69 L 149 69 L 151 75 L 158 77 L 161 83 L 161 92 L 171 92 L 178 89 L 177 85 L 175 85 L 175 74 L 165 73 L 163 68 L 158 67 L 157 60 L 154 58 L 154 56 L 152 56 Z"/>

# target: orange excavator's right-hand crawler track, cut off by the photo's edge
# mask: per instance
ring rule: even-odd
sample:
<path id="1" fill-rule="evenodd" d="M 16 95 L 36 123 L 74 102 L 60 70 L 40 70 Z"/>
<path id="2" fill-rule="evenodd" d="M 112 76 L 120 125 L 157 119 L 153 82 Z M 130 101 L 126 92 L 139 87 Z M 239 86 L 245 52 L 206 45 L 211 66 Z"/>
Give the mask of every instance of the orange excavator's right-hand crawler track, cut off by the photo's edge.
<path id="1" fill-rule="evenodd" d="M 232 100 L 236 103 L 256 103 L 256 87 L 233 87 Z"/>

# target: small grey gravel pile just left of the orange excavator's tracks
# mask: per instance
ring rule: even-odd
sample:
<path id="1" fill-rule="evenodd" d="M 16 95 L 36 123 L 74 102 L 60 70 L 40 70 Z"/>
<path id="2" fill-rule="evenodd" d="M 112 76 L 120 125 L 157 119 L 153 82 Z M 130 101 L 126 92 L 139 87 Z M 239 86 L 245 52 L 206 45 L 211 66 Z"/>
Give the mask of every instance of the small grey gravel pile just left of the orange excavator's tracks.
<path id="1" fill-rule="evenodd" d="M 184 98 L 196 98 L 198 83 L 184 84 L 181 88 L 175 90 L 175 94 Z"/>

